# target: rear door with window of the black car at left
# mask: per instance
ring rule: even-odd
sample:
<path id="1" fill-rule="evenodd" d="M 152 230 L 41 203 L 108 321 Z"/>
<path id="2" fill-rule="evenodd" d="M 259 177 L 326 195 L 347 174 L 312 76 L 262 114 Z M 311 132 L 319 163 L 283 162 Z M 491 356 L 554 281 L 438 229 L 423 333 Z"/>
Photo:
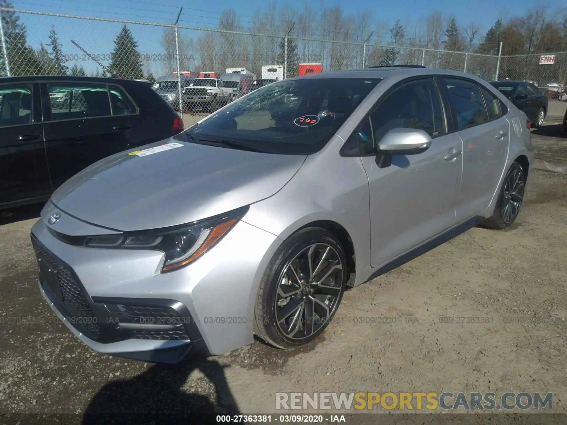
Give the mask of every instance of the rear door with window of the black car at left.
<path id="1" fill-rule="evenodd" d="M 115 108 L 121 106 L 107 84 L 42 84 L 45 147 L 54 189 L 88 165 L 128 148 L 130 116 L 112 114 L 111 99 Z"/>

